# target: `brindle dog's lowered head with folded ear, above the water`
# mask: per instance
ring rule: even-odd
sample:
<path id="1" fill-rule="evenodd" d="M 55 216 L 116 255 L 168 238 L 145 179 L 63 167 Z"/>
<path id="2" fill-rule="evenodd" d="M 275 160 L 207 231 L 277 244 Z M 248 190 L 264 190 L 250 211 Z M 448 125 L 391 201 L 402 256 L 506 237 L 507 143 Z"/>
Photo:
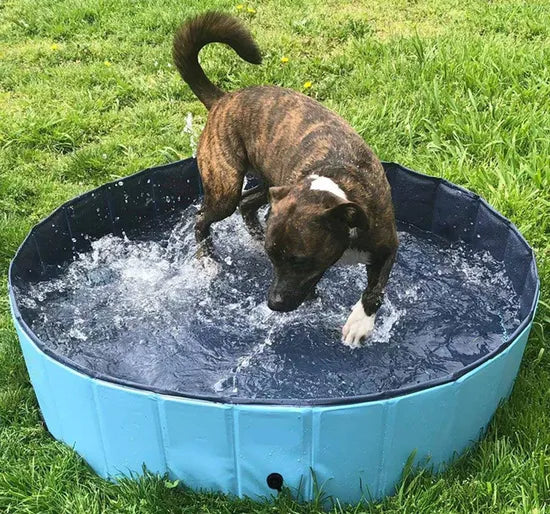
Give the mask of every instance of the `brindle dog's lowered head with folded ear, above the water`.
<path id="1" fill-rule="evenodd" d="M 269 189 L 265 248 L 274 271 L 270 309 L 296 309 L 346 251 L 350 230 L 367 228 L 363 209 L 341 190 L 336 192 L 341 194 L 312 188 L 308 182 Z"/>

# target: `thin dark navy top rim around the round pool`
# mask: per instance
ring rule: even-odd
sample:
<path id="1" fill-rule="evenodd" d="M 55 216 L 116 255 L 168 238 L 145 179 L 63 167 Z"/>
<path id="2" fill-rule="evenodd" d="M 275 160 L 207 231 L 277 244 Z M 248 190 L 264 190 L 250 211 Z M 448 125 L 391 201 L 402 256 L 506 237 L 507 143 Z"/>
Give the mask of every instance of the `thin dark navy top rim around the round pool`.
<path id="1" fill-rule="evenodd" d="M 432 389 L 434 387 L 455 382 L 462 376 L 468 374 L 469 372 L 475 370 L 485 362 L 495 358 L 500 353 L 502 353 L 506 348 L 511 346 L 516 340 L 518 340 L 520 334 L 531 325 L 531 323 L 534 320 L 534 316 L 536 313 L 536 308 L 538 304 L 538 300 L 540 297 L 540 277 L 538 274 L 538 268 L 536 264 L 536 256 L 534 250 L 531 248 L 529 243 L 526 241 L 526 239 L 523 237 L 523 235 L 520 233 L 518 228 L 515 226 L 514 223 L 512 223 L 509 219 L 507 219 L 505 216 L 503 216 L 501 213 L 499 213 L 496 209 L 494 209 L 485 199 L 483 199 L 481 196 L 479 196 L 476 193 L 473 193 L 469 191 L 466 188 L 463 188 L 461 186 L 458 186 L 444 178 L 441 177 L 434 177 L 431 175 L 427 175 L 424 173 L 420 173 L 414 170 L 411 170 L 399 163 L 391 162 L 391 161 L 384 161 L 383 165 L 386 166 L 393 166 L 398 168 L 400 171 L 404 173 L 408 173 L 417 177 L 422 178 L 428 178 L 433 181 L 437 181 L 441 184 L 446 185 L 447 187 L 450 187 L 451 189 L 455 189 L 457 191 L 460 191 L 462 193 L 466 193 L 468 196 L 471 196 L 474 200 L 484 204 L 484 206 L 488 209 L 488 211 L 491 213 L 492 216 L 496 217 L 500 222 L 503 222 L 508 229 L 515 232 L 515 234 L 519 237 L 519 240 L 522 245 L 524 245 L 528 250 L 529 254 L 531 256 L 531 266 L 534 267 L 534 273 L 536 277 L 536 283 L 535 283 L 535 290 L 533 294 L 533 300 L 529 309 L 529 314 L 520 322 L 518 327 L 508 336 L 506 341 L 504 341 L 502 344 L 500 344 L 497 348 L 490 351 L 483 357 L 480 357 L 479 359 L 475 360 L 474 362 L 468 364 L 467 366 L 462 367 L 460 370 L 455 371 L 454 373 L 451 373 L 449 375 L 446 375 L 444 377 L 440 377 L 437 379 L 428 380 L 426 382 L 422 382 L 417 385 L 407 386 L 399 389 L 390 389 L 387 391 L 381 391 L 376 393 L 368 393 L 363 395 L 356 395 L 356 396 L 345 396 L 341 398 L 302 398 L 302 399 L 285 399 L 285 398 L 242 398 L 238 396 L 224 396 L 222 394 L 199 394 L 199 393 L 187 393 L 187 392 L 178 392 L 178 391 L 172 391 L 169 389 L 164 389 L 161 387 L 154 387 L 154 386 L 147 386 L 144 384 L 139 384 L 136 382 L 133 382 L 131 380 L 124 380 L 117 377 L 112 377 L 110 375 L 107 375 L 105 373 L 92 371 L 87 369 L 85 366 L 82 366 L 76 362 L 73 362 L 68 357 L 58 355 L 55 352 L 53 352 L 47 344 L 43 343 L 38 336 L 30 329 L 30 327 L 27 325 L 25 320 L 23 319 L 23 316 L 21 315 L 21 312 L 19 310 L 19 307 L 17 305 L 16 295 L 14 291 L 14 284 L 13 284 L 13 274 L 14 274 L 14 262 L 17 259 L 20 250 L 25 246 L 25 244 L 30 241 L 31 238 L 34 237 L 34 233 L 36 230 L 38 230 L 39 227 L 41 227 L 43 224 L 47 223 L 50 218 L 52 218 L 54 215 L 56 215 L 60 211 L 64 211 L 66 207 L 70 206 L 73 202 L 78 200 L 81 197 L 87 196 L 92 192 L 107 189 L 108 187 L 114 187 L 120 182 L 124 182 L 125 180 L 138 177 L 140 175 L 145 175 L 149 173 L 153 173 L 159 170 L 162 170 L 164 168 L 172 168 L 181 164 L 190 164 L 192 162 L 196 161 L 194 158 L 187 158 L 182 159 L 179 161 L 175 161 L 172 163 L 164 164 L 161 166 L 153 166 L 150 168 L 146 168 L 144 170 L 141 170 L 137 173 L 128 175 L 124 178 L 116 179 L 110 182 L 106 182 L 102 184 L 101 186 L 91 189 L 90 191 L 86 191 L 76 197 L 71 198 L 70 200 L 64 202 L 59 207 L 57 207 L 55 210 L 53 210 L 51 213 L 48 214 L 45 218 L 43 218 L 39 223 L 36 223 L 33 225 L 27 236 L 24 238 L 22 243 L 19 245 L 17 251 L 15 252 L 14 257 L 10 261 L 9 270 L 8 270 L 8 296 L 10 301 L 10 306 L 12 310 L 12 315 L 14 318 L 14 321 L 19 324 L 19 327 L 23 331 L 23 333 L 29 337 L 29 339 L 37 346 L 37 348 L 42 351 L 44 354 L 48 355 L 58 363 L 67 366 L 68 368 L 77 371 L 85 376 L 88 376 L 92 379 L 101 380 L 103 382 L 116 384 L 123 387 L 128 387 L 131 389 L 138 389 L 142 391 L 149 391 L 152 393 L 156 393 L 163 396 L 171 396 L 171 397 L 178 397 L 182 399 L 189 399 L 189 400 L 200 400 L 200 401 L 207 401 L 207 402 L 213 402 L 213 403 L 222 403 L 222 404 L 233 404 L 233 405 L 258 405 L 258 406 L 288 406 L 288 407 L 316 407 L 316 406 L 337 406 L 337 405 L 353 405 L 353 404 L 362 404 L 362 403 L 370 403 L 370 402 L 376 402 L 379 400 L 386 400 L 390 398 L 398 398 L 401 396 L 406 396 L 415 392 L 420 392 L 428 389 Z M 202 192 L 202 191 L 201 191 Z"/>

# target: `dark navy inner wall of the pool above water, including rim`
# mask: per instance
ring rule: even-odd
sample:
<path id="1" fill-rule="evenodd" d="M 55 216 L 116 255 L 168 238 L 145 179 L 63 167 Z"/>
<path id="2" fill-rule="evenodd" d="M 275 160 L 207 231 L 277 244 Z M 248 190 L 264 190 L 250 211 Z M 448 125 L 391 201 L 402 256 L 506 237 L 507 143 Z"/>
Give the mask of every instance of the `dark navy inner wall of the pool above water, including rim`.
<path id="1" fill-rule="evenodd" d="M 539 292 L 532 249 L 517 228 L 478 195 L 450 182 L 423 175 L 395 163 L 384 163 L 392 188 L 397 219 L 449 241 L 462 240 L 476 250 L 487 250 L 504 261 L 520 301 L 521 323 L 496 350 L 444 378 L 382 393 L 325 399 L 250 399 L 216 394 L 187 394 L 146 387 L 83 367 L 56 354 L 29 329 L 17 305 L 13 286 L 53 276 L 57 265 L 90 249 L 90 242 L 106 234 L 121 235 L 141 224 L 187 207 L 201 194 L 196 161 L 150 168 L 85 193 L 63 204 L 37 224 L 22 243 L 9 270 L 9 294 L 14 315 L 25 334 L 44 353 L 92 378 L 137 389 L 230 404 L 343 405 L 392 398 L 457 380 L 506 349 L 531 323 Z"/>

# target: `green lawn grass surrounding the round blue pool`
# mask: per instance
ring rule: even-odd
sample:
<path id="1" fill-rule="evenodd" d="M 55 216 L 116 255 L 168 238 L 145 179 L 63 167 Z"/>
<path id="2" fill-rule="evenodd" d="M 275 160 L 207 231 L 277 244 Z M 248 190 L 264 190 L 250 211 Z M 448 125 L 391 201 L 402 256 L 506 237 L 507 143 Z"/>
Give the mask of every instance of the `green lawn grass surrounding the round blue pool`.
<path id="1" fill-rule="evenodd" d="M 240 0 L 239 0 L 240 1 Z M 550 512 L 550 3 L 512 0 L 0 0 L 0 270 L 29 228 L 107 180 L 191 153 L 202 105 L 170 65 L 186 16 L 216 7 L 250 25 L 253 67 L 203 51 L 224 89 L 278 84 L 347 118 L 375 151 L 476 191 L 534 247 L 542 301 L 510 401 L 446 473 L 345 512 Z M 248 12 L 251 7 L 255 12 Z M 288 57 L 282 63 L 281 57 Z M 147 476 L 104 482 L 39 420 L 0 285 L 0 511 L 319 512 Z M 546 352 L 545 352 L 546 350 Z M 334 511 L 340 511 L 334 507 Z"/>

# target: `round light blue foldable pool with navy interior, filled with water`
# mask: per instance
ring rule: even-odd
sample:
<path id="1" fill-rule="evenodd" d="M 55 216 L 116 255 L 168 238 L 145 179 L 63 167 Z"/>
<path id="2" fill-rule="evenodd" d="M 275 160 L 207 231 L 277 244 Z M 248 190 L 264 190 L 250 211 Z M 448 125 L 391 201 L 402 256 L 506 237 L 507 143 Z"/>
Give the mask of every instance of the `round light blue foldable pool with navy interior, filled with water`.
<path id="1" fill-rule="evenodd" d="M 341 502 L 378 499 L 411 455 L 443 469 L 512 389 L 537 269 L 477 195 L 384 166 L 400 257 L 358 350 L 339 331 L 362 268 L 336 267 L 317 298 L 281 314 L 265 306 L 269 265 L 236 221 L 214 233 L 220 262 L 197 264 L 193 159 L 106 184 L 35 226 L 9 294 L 51 434 L 103 477 L 145 466 L 252 498 L 284 486 L 309 500 L 318 484 Z"/>

